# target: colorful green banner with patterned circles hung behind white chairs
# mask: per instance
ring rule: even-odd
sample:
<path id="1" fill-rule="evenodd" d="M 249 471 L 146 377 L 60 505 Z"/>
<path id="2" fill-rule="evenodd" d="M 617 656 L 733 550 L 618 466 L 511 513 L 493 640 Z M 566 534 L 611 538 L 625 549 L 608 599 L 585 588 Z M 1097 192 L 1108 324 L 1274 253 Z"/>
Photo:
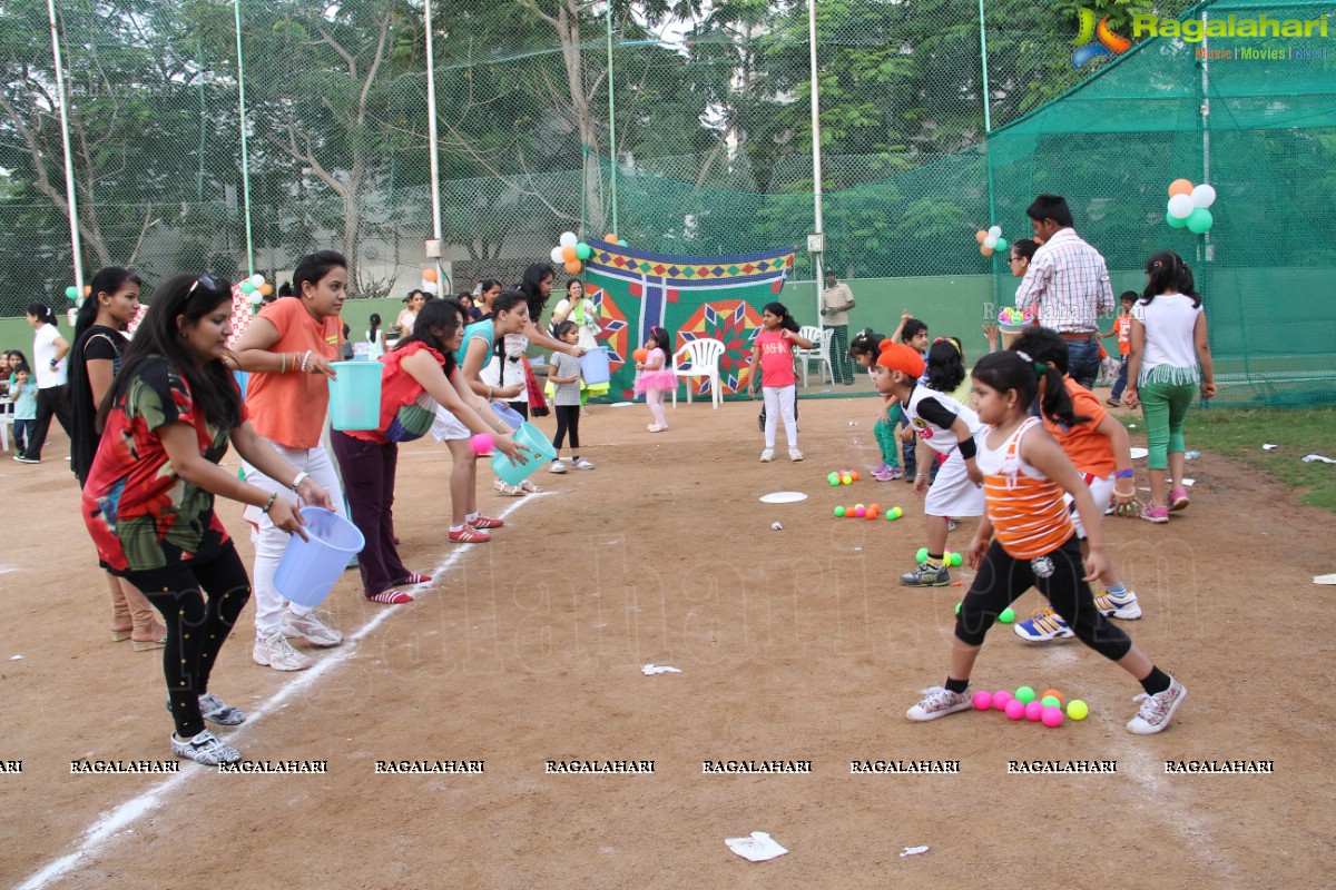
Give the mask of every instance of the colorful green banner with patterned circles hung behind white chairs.
<path id="1" fill-rule="evenodd" d="M 720 388 L 728 395 L 747 387 L 760 312 L 780 299 L 794 268 L 792 248 L 701 258 L 651 254 L 600 240 L 591 240 L 589 247 L 585 288 L 599 307 L 599 340 L 612 360 L 612 400 L 633 398 L 636 366 L 631 354 L 644 346 L 655 326 L 667 328 L 673 350 L 700 338 L 721 340 Z M 692 379 L 692 387 L 709 395 L 704 379 Z"/>

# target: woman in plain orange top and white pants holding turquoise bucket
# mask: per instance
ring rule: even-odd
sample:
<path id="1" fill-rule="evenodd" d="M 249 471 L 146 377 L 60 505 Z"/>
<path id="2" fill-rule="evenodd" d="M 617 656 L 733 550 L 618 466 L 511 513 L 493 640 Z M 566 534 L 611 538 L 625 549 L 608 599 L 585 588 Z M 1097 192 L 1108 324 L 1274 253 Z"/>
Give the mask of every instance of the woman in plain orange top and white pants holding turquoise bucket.
<path id="1" fill-rule="evenodd" d="M 289 476 L 274 478 L 246 462 L 246 482 L 281 499 L 295 502 L 291 488 L 311 478 L 334 499 L 343 516 L 343 487 L 334 462 L 321 442 L 329 411 L 329 380 L 334 376 L 342 339 L 339 310 L 347 288 L 347 260 L 335 251 L 307 254 L 293 272 L 293 298 L 263 307 L 236 342 L 236 360 L 250 372 L 246 407 L 255 431 L 274 451 L 297 467 Z M 310 606 L 285 603 L 274 586 L 274 572 L 287 548 L 287 535 L 259 510 L 247 510 L 255 543 L 255 646 L 257 664 L 279 671 L 301 671 L 311 659 L 293 648 L 289 636 L 311 646 L 338 646 L 343 634 L 330 627 Z"/>

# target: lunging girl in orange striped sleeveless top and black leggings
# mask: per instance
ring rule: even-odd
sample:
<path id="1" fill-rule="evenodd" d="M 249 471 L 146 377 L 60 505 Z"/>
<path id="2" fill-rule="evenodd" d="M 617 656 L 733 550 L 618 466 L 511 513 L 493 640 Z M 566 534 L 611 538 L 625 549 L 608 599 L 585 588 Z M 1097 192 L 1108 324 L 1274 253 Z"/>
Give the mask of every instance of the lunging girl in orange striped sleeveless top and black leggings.
<path id="1" fill-rule="evenodd" d="M 1079 422 L 1062 375 L 1029 355 L 994 352 L 974 367 L 975 407 L 979 420 L 991 426 L 975 458 L 987 499 L 987 512 L 969 550 L 970 567 L 978 574 L 955 619 L 946 686 L 929 690 L 906 717 L 933 721 L 971 707 L 970 673 L 985 634 L 1003 608 L 1035 586 L 1081 642 L 1141 682 L 1141 710 L 1128 722 L 1128 731 L 1158 733 L 1169 726 L 1188 691 L 1096 608 L 1088 582 L 1109 568 L 1100 514 L 1062 448 L 1037 418 L 1027 416 L 1041 379 L 1046 382 L 1043 414 L 1067 426 Z M 1071 495 L 1086 528 L 1090 551 L 1085 566 L 1063 491 Z"/>

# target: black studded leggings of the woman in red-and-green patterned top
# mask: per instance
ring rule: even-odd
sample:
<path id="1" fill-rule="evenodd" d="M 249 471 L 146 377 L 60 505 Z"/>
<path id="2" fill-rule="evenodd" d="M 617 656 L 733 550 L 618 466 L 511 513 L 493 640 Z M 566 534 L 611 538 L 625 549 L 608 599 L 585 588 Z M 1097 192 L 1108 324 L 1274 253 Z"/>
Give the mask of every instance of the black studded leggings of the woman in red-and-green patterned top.
<path id="1" fill-rule="evenodd" d="M 208 691 L 208 674 L 218 651 L 250 599 L 246 567 L 228 542 L 207 562 L 127 572 L 126 580 L 144 591 L 167 626 L 163 675 L 176 735 L 183 739 L 199 735 L 204 730 L 199 697 Z M 207 602 L 200 587 L 208 594 Z"/>

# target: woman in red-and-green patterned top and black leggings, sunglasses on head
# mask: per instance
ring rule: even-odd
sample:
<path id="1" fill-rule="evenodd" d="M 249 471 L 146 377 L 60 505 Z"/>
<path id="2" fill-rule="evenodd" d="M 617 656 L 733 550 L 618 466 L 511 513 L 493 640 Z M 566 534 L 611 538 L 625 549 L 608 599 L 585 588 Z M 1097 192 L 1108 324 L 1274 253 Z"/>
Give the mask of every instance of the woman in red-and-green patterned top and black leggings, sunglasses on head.
<path id="1" fill-rule="evenodd" d="M 285 538 L 306 536 L 290 502 L 218 466 L 228 442 L 266 475 L 295 479 L 303 503 L 333 508 L 329 494 L 298 476 L 247 420 L 223 362 L 231 311 L 231 286 L 208 275 L 178 276 L 158 290 L 99 408 L 104 432 L 83 488 L 102 566 L 143 591 L 167 624 L 172 753 L 207 766 L 240 759 L 204 721 L 246 719 L 208 691 L 208 679 L 251 592 L 214 496 L 262 511 Z"/>

